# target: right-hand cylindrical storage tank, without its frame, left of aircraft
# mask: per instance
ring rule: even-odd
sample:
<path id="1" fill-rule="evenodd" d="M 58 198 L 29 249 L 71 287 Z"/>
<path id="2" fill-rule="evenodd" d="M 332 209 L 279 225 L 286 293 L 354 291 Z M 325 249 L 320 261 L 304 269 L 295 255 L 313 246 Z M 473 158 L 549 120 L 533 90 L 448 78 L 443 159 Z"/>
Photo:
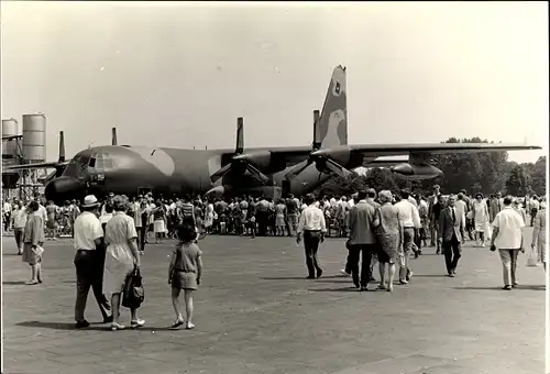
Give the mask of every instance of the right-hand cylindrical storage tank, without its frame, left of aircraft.
<path id="1" fill-rule="evenodd" d="M 23 114 L 23 158 L 29 163 L 46 160 L 46 117 Z"/>

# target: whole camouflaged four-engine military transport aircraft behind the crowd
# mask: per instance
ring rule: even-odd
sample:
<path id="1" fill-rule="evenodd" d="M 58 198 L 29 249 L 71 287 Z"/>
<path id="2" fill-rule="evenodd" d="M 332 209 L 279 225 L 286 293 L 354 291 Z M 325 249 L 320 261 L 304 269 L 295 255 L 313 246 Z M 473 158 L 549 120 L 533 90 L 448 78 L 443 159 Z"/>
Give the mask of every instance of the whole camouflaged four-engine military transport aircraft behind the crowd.
<path id="1" fill-rule="evenodd" d="M 360 166 L 392 166 L 410 178 L 433 178 L 442 172 L 431 155 L 457 152 L 539 150 L 539 146 L 484 143 L 348 144 L 345 68 L 333 70 L 321 113 L 314 112 L 310 146 L 244 150 L 243 119 L 238 119 L 234 150 L 182 150 L 133 145 L 95 146 L 63 165 L 61 177 L 46 185 L 47 199 L 81 198 L 85 194 L 264 194 L 302 195 L 330 177 L 348 177 Z M 381 156 L 405 156 L 383 161 Z M 44 165 L 44 164 L 43 164 Z M 28 168 L 21 165 L 12 168 Z M 58 167 L 50 163 L 47 167 Z M 44 167 L 40 164 L 32 167 Z M 11 168 L 10 168 L 11 169 Z"/>

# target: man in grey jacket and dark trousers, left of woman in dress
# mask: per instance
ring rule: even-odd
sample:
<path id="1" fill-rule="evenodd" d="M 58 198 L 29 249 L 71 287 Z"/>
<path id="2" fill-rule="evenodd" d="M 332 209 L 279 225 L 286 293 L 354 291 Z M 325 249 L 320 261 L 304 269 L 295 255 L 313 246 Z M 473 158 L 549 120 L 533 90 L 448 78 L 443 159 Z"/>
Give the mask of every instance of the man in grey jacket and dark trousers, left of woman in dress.
<path id="1" fill-rule="evenodd" d="M 349 213 L 350 229 L 350 256 L 351 275 L 353 284 L 360 287 L 359 261 L 361 260 L 361 290 L 367 290 L 371 279 L 371 258 L 376 252 L 376 238 L 374 237 L 374 213 L 375 208 L 366 201 L 366 191 L 358 193 L 359 202 L 354 205 Z"/>

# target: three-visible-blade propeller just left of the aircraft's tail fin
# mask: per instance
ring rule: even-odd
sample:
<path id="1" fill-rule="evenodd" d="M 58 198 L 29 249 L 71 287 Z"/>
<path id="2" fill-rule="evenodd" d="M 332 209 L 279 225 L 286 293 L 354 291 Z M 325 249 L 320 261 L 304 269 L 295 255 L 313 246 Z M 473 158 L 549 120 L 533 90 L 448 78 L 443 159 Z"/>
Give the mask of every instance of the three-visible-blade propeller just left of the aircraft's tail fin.
<path id="1" fill-rule="evenodd" d="M 338 164 L 336 161 L 331 158 L 331 154 L 334 154 L 336 151 L 331 151 L 330 148 L 321 150 L 321 139 L 319 131 L 320 116 L 318 110 L 314 110 L 314 143 L 311 146 L 311 153 L 309 153 L 309 157 L 304 165 L 298 165 L 295 168 L 290 169 L 285 175 L 287 180 L 292 180 L 300 175 L 306 168 L 308 168 L 311 164 L 316 164 L 317 169 L 321 173 L 333 173 L 343 178 L 348 178 L 352 175 L 350 170 L 348 170 L 342 165 Z M 340 150 L 338 152 L 341 152 Z"/>

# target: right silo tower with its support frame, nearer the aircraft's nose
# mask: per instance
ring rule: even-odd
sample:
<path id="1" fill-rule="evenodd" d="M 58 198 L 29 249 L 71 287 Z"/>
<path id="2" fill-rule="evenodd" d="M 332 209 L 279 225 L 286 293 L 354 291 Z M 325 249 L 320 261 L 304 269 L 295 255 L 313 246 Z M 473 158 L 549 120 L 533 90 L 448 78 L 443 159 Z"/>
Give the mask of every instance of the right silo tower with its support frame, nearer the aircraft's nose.
<path id="1" fill-rule="evenodd" d="M 44 163 L 46 160 L 46 117 L 42 113 L 23 114 L 23 164 Z M 20 177 L 20 197 L 26 199 L 43 193 L 38 183 L 44 169 L 23 170 Z"/>

